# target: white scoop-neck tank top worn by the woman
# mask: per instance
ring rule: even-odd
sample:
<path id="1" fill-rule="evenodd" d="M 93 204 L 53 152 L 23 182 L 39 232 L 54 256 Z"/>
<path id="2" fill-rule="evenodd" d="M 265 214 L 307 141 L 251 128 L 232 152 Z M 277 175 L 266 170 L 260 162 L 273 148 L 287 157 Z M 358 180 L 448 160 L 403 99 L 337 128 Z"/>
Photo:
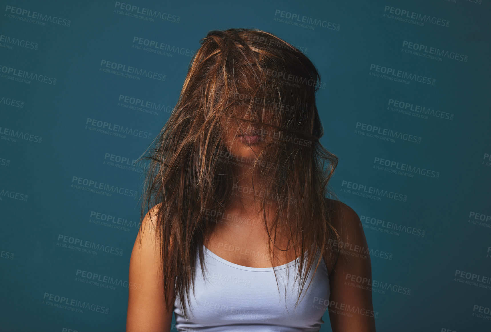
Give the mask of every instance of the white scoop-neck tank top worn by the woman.
<path id="1" fill-rule="evenodd" d="M 196 258 L 194 291 L 190 289 L 189 320 L 182 314 L 179 295 L 174 303 L 177 331 L 319 331 L 329 299 L 329 276 L 324 258 L 310 286 L 315 265 L 309 271 L 299 305 L 298 274 L 300 257 L 273 267 L 247 267 L 234 264 L 203 246 L 205 276 Z M 305 252 L 305 257 L 307 252 Z M 317 258 L 320 251 L 317 251 Z M 304 261 L 305 262 L 305 261 Z M 305 263 L 304 263 L 305 269 Z M 288 272 L 288 277 L 287 277 Z M 285 282 L 286 281 L 286 282 Z M 285 289 L 286 286 L 286 289 Z M 285 302 L 286 300 L 286 302 Z M 326 304 L 326 305 L 325 305 Z"/>

